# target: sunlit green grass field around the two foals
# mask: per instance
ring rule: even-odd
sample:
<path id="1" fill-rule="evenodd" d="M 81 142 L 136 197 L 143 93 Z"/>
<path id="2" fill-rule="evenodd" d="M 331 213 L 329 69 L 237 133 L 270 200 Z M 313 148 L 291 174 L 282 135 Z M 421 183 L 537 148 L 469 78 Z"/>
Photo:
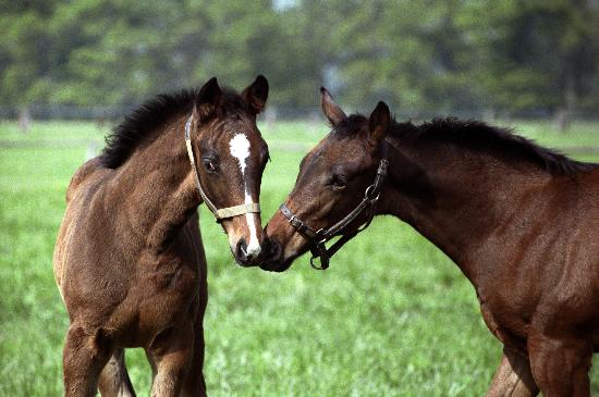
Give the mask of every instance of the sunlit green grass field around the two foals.
<path id="1" fill-rule="evenodd" d="M 327 127 L 280 123 L 261 129 L 272 158 L 260 198 L 266 223 L 295 182 L 305 150 Z M 598 124 L 575 124 L 566 135 L 549 123 L 518 123 L 516 131 L 553 147 L 599 146 Z M 0 123 L 0 140 L 60 142 L 0 148 L 0 396 L 62 394 L 68 318 L 51 260 L 64 191 L 86 153 L 84 144 L 69 140 L 105 133 L 91 123 L 51 122 L 22 135 L 14 123 Z M 474 289 L 399 220 L 378 218 L 326 272 L 311 270 L 304 257 L 282 274 L 239 268 L 205 208 L 200 223 L 209 262 L 210 395 L 485 394 L 501 346 L 482 322 Z M 126 360 L 138 395 L 148 395 L 143 351 L 127 350 Z M 597 368 L 591 380 L 599 394 Z"/>

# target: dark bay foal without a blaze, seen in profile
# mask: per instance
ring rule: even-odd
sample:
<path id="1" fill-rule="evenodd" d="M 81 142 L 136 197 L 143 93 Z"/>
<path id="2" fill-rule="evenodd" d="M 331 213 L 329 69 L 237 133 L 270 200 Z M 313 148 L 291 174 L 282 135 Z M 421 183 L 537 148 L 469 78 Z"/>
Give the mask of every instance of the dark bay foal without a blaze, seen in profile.
<path id="1" fill-rule="evenodd" d="M 598 164 L 484 123 L 396 123 L 382 102 L 368 119 L 346 116 L 325 89 L 322 109 L 333 131 L 268 223 L 262 269 L 284 271 L 308 249 L 327 257 L 327 228 L 371 199 L 367 208 L 411 224 L 474 285 L 504 345 L 488 396 L 588 396 L 599 350 Z M 362 211 L 335 234 L 367 221 Z"/>

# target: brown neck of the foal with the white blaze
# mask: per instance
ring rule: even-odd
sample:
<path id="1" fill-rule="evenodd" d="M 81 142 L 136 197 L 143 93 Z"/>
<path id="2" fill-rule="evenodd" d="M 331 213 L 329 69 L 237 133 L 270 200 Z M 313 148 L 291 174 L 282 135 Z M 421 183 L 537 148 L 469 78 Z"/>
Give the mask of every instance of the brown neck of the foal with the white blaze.
<path id="1" fill-rule="evenodd" d="M 122 211 L 120 225 L 143 247 L 162 251 L 200 204 L 183 137 L 184 119 L 140 145 L 118 170 L 110 197 Z"/>

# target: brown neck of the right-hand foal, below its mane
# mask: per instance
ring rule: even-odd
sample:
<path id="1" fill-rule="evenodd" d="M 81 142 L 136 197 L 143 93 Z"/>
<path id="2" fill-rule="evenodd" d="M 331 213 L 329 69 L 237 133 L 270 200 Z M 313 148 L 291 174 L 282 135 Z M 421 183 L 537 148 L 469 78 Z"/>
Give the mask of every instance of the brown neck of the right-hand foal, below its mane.
<path id="1" fill-rule="evenodd" d="M 497 229 L 535 215 L 525 210 L 526 202 L 538 197 L 549 175 L 531 164 L 515 172 L 491 154 L 447 144 L 389 142 L 391 169 L 381 212 L 411 224 L 477 285 L 489 265 L 485 258 L 510 245 L 508 234 L 498 237 Z"/>

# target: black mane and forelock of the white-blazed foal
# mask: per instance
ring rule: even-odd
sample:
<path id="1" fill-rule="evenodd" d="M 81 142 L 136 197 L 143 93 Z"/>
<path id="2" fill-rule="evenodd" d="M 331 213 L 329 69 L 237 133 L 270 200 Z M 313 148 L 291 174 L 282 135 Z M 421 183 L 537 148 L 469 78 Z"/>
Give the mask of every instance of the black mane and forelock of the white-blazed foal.
<path id="1" fill-rule="evenodd" d="M 247 112 L 247 104 L 233 89 L 221 88 L 221 113 L 235 111 Z M 178 114 L 191 113 L 199 89 L 184 89 L 175 94 L 160 94 L 146 101 L 125 116 L 106 137 L 106 147 L 100 153 L 100 163 L 107 169 L 121 166 L 140 142 L 154 135 L 159 127 L 164 127 Z"/>

